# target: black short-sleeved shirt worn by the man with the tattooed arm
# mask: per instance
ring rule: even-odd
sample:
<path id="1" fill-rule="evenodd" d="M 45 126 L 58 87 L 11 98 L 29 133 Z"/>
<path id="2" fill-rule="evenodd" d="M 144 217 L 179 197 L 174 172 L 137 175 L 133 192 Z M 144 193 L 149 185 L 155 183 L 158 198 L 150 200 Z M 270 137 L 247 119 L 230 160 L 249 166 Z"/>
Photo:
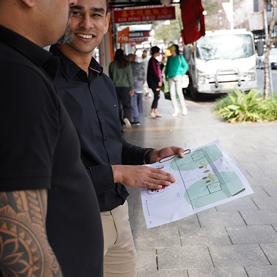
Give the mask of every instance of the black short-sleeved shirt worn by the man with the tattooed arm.
<path id="1" fill-rule="evenodd" d="M 57 67 L 57 57 L 0 26 L 0 191 L 48 189 L 47 235 L 64 276 L 102 277 L 100 210 L 52 83 Z"/>

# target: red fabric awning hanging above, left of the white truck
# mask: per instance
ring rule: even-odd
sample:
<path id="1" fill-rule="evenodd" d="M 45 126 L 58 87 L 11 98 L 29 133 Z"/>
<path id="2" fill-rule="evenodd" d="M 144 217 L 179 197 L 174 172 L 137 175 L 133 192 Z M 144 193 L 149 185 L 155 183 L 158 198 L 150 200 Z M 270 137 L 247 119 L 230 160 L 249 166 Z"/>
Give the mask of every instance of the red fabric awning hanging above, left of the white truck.
<path id="1" fill-rule="evenodd" d="M 205 22 L 201 0 L 183 0 L 181 14 L 184 29 L 183 43 L 190 44 L 205 35 Z"/>

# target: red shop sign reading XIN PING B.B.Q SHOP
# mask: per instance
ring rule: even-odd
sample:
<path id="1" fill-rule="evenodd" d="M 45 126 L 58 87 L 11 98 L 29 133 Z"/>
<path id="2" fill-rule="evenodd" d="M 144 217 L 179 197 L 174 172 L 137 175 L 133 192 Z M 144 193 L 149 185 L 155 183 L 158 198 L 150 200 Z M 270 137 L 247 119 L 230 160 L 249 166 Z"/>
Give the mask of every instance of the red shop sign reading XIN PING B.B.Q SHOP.
<path id="1" fill-rule="evenodd" d="M 114 23 L 175 19 L 175 7 L 126 9 L 113 11 Z"/>

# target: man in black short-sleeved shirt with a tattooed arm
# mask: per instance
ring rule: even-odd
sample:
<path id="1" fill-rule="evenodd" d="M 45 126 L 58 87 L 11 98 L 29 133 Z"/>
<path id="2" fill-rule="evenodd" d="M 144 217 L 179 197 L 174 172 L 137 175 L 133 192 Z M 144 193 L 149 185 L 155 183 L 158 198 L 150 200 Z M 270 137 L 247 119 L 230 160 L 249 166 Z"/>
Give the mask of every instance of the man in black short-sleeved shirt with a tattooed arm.
<path id="1" fill-rule="evenodd" d="M 103 276 L 96 194 L 42 49 L 76 3 L 0 0 L 0 276 Z"/>

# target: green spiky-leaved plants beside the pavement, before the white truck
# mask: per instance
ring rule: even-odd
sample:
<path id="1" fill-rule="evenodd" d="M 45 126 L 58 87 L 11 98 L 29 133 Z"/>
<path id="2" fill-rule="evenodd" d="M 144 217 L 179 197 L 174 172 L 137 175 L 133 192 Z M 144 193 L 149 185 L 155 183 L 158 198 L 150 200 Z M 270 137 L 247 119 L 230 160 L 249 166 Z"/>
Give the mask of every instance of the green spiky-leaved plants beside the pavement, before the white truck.
<path id="1" fill-rule="evenodd" d="M 235 88 L 232 93 L 216 100 L 213 111 L 230 123 L 277 121 L 277 96 L 265 100 L 259 91 L 251 89 L 245 93 Z"/>

